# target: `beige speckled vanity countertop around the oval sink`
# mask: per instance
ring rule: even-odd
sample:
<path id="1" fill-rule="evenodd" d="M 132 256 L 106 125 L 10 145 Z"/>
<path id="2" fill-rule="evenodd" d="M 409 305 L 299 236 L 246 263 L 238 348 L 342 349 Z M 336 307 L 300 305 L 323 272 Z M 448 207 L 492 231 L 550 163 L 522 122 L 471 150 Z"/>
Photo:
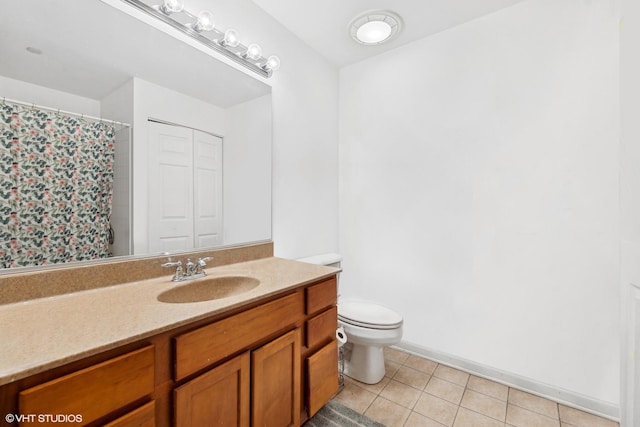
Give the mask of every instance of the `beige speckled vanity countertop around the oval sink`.
<path id="1" fill-rule="evenodd" d="M 249 276 L 260 285 L 227 298 L 163 303 L 171 276 L 0 305 L 0 385 L 224 313 L 340 271 L 269 257 L 207 269 L 207 277 Z M 206 279 L 204 279 L 206 280 Z"/>

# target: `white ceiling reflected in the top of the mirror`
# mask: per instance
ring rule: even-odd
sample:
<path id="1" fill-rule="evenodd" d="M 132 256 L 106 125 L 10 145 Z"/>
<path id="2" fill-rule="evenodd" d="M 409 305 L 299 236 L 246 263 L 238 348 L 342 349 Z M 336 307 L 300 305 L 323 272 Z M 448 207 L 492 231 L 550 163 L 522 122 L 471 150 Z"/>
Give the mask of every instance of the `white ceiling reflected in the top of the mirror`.
<path id="1" fill-rule="evenodd" d="M 99 0 L 11 2 L 0 16 L 0 52 L 0 75 L 91 99 L 132 76 L 223 108 L 270 93 L 253 76 Z"/>

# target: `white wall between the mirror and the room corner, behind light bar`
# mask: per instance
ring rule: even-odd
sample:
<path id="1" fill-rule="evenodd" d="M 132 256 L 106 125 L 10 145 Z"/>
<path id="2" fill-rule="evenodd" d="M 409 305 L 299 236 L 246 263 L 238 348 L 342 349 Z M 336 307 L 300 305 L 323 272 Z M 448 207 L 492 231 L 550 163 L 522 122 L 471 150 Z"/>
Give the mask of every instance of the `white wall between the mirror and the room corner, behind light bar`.
<path id="1" fill-rule="evenodd" d="M 338 71 L 251 0 L 192 0 L 219 28 L 276 54 L 273 97 L 273 240 L 277 256 L 338 248 Z"/>

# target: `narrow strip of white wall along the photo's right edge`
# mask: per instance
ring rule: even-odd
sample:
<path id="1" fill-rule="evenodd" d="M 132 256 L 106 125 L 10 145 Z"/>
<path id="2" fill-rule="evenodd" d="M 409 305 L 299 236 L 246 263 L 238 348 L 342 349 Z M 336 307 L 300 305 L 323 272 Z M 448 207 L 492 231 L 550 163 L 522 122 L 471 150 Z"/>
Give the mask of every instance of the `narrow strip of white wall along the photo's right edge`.
<path id="1" fill-rule="evenodd" d="M 635 426 L 640 424 L 640 3 L 622 0 L 621 8 L 621 425 Z"/>

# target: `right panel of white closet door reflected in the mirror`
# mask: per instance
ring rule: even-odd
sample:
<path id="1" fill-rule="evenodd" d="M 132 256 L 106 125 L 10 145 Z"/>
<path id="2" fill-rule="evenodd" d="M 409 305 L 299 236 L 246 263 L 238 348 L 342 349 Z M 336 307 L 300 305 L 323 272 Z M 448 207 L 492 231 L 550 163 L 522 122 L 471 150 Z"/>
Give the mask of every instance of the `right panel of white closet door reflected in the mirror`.
<path id="1" fill-rule="evenodd" d="M 222 244 L 222 138 L 193 131 L 194 226 L 198 248 Z"/>

